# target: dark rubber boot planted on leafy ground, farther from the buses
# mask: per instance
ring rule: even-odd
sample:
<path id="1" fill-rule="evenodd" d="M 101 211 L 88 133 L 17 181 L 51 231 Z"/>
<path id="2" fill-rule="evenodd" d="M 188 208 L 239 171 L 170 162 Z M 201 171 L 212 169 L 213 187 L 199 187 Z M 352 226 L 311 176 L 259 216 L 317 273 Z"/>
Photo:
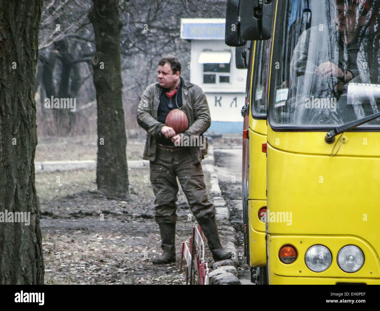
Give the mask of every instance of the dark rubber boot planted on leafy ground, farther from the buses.
<path id="1" fill-rule="evenodd" d="M 176 247 L 174 245 L 176 238 L 176 224 L 174 223 L 158 223 L 161 234 L 162 256 L 153 259 L 154 264 L 169 264 L 176 261 Z"/>

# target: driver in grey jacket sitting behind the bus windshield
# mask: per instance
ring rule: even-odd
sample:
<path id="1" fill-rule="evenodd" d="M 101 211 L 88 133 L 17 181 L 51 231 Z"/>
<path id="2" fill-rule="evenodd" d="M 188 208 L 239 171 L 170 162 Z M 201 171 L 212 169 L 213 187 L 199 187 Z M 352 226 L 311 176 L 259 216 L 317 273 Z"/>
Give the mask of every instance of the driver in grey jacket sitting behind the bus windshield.
<path id="1" fill-rule="evenodd" d="M 338 124 L 357 119 L 353 107 L 347 107 L 347 86 L 349 82 L 370 83 L 361 79 L 369 68 L 366 53 L 359 53 L 369 11 L 369 0 L 336 0 L 336 16 L 330 19 L 336 35 L 319 25 L 300 36 L 291 59 L 291 93 L 296 94 L 299 122 L 305 124 L 307 118 L 310 123 Z M 336 102 L 331 101 L 330 109 L 308 110 L 305 100 L 310 94 Z"/>

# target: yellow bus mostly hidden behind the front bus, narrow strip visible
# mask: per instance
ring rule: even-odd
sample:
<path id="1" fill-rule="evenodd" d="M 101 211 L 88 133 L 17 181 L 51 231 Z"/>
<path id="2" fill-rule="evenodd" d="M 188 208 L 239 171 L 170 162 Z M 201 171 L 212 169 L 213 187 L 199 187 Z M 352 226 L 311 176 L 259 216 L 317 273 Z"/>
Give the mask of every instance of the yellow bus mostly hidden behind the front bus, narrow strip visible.
<path id="1" fill-rule="evenodd" d="M 231 13 L 237 14 L 238 5 L 238 1 L 228 3 L 226 38 L 231 39 L 229 28 L 234 23 L 234 16 Z M 242 116 L 244 117 L 242 204 L 244 256 L 247 258 L 247 264 L 251 267 L 251 281 L 256 284 L 266 283 L 267 279 L 264 220 L 266 212 L 266 156 L 262 152 L 262 148 L 267 142 L 266 111 L 271 42 L 271 39 L 248 41 L 244 48 L 236 48 L 237 58 L 240 58 L 240 51 L 245 54 L 245 65 L 248 69 L 245 105 L 242 109 Z M 226 43 L 230 46 L 239 46 L 245 41 L 235 37 L 232 42 L 227 39 Z M 249 54 L 247 49 L 249 49 Z M 236 63 L 240 65 L 239 68 L 244 68 L 242 65 L 244 62 Z"/>

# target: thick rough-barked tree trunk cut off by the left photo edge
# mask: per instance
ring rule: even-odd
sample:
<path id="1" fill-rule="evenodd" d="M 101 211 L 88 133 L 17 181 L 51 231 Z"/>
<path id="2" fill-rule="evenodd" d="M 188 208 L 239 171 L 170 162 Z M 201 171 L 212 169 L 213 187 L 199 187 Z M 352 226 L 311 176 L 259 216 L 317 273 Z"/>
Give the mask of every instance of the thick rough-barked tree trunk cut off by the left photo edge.
<path id="1" fill-rule="evenodd" d="M 44 283 L 33 92 L 42 3 L 0 0 L 0 284 Z"/>

